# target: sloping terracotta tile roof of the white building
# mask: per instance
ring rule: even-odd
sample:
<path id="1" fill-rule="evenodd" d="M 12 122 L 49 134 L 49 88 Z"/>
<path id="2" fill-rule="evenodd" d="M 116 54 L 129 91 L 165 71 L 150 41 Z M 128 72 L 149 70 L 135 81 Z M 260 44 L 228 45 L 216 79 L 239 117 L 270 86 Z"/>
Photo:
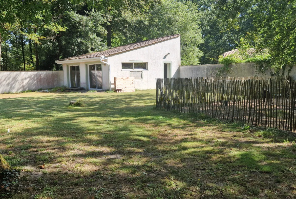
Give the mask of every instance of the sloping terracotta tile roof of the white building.
<path id="1" fill-rule="evenodd" d="M 162 41 L 172 39 L 172 38 L 175 38 L 175 37 L 178 37 L 178 36 L 180 36 L 180 35 L 175 34 L 175 35 L 164 36 L 164 37 L 160 37 L 160 38 L 156 38 L 156 39 L 148 39 L 148 40 L 141 41 L 141 42 L 135 42 L 135 43 L 127 44 L 127 45 L 124 45 L 124 46 L 110 48 L 108 50 L 101 51 L 101 52 L 93 52 L 93 53 L 84 54 L 84 55 L 77 55 L 77 56 L 74 56 L 74 57 L 60 59 L 58 61 L 84 59 L 84 58 L 94 58 L 94 57 L 101 57 L 103 55 L 105 55 L 105 56 L 113 55 L 113 54 L 124 52 L 124 51 L 127 51 L 127 50 L 133 50 L 135 48 L 155 44 L 157 42 L 162 42 Z"/>

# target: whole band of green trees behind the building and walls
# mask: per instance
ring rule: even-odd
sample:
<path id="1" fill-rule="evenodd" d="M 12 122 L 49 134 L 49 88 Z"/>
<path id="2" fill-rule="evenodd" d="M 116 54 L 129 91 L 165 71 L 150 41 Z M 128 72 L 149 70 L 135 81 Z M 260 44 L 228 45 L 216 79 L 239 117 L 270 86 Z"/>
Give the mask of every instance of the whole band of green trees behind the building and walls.
<path id="1" fill-rule="evenodd" d="M 218 63 L 244 44 L 275 69 L 296 62 L 296 0 L 0 0 L 0 70 L 181 34 L 181 64 Z M 258 58 L 258 57 L 257 57 Z M 266 61 L 266 60 L 264 60 Z"/>

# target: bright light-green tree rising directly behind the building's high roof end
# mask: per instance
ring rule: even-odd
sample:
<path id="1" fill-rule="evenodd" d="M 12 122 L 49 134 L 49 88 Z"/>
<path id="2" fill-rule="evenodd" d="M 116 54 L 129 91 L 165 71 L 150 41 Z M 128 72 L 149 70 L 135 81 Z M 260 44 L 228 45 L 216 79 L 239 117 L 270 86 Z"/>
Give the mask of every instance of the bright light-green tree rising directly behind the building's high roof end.
<path id="1" fill-rule="evenodd" d="M 144 13 L 127 12 L 125 17 L 130 23 L 125 31 L 128 42 L 181 34 L 181 64 L 199 63 L 203 39 L 196 4 L 162 0 Z"/>

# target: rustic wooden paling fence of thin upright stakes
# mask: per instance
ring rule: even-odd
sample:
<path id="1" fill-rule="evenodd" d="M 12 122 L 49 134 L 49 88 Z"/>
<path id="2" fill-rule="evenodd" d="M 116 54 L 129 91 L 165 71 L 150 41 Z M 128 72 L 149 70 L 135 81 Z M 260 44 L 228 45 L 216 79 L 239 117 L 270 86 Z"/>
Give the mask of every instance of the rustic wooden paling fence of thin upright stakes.
<path id="1" fill-rule="evenodd" d="M 296 82 L 290 76 L 156 79 L 156 106 L 223 122 L 296 130 Z"/>

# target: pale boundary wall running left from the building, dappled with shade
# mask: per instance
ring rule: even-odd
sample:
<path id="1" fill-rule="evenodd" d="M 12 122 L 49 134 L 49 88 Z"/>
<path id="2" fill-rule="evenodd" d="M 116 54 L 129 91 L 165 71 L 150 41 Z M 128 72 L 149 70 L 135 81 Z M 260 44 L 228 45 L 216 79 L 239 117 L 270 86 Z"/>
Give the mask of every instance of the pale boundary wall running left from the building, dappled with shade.
<path id="1" fill-rule="evenodd" d="M 63 71 L 0 71 L 0 93 L 62 86 Z"/>

